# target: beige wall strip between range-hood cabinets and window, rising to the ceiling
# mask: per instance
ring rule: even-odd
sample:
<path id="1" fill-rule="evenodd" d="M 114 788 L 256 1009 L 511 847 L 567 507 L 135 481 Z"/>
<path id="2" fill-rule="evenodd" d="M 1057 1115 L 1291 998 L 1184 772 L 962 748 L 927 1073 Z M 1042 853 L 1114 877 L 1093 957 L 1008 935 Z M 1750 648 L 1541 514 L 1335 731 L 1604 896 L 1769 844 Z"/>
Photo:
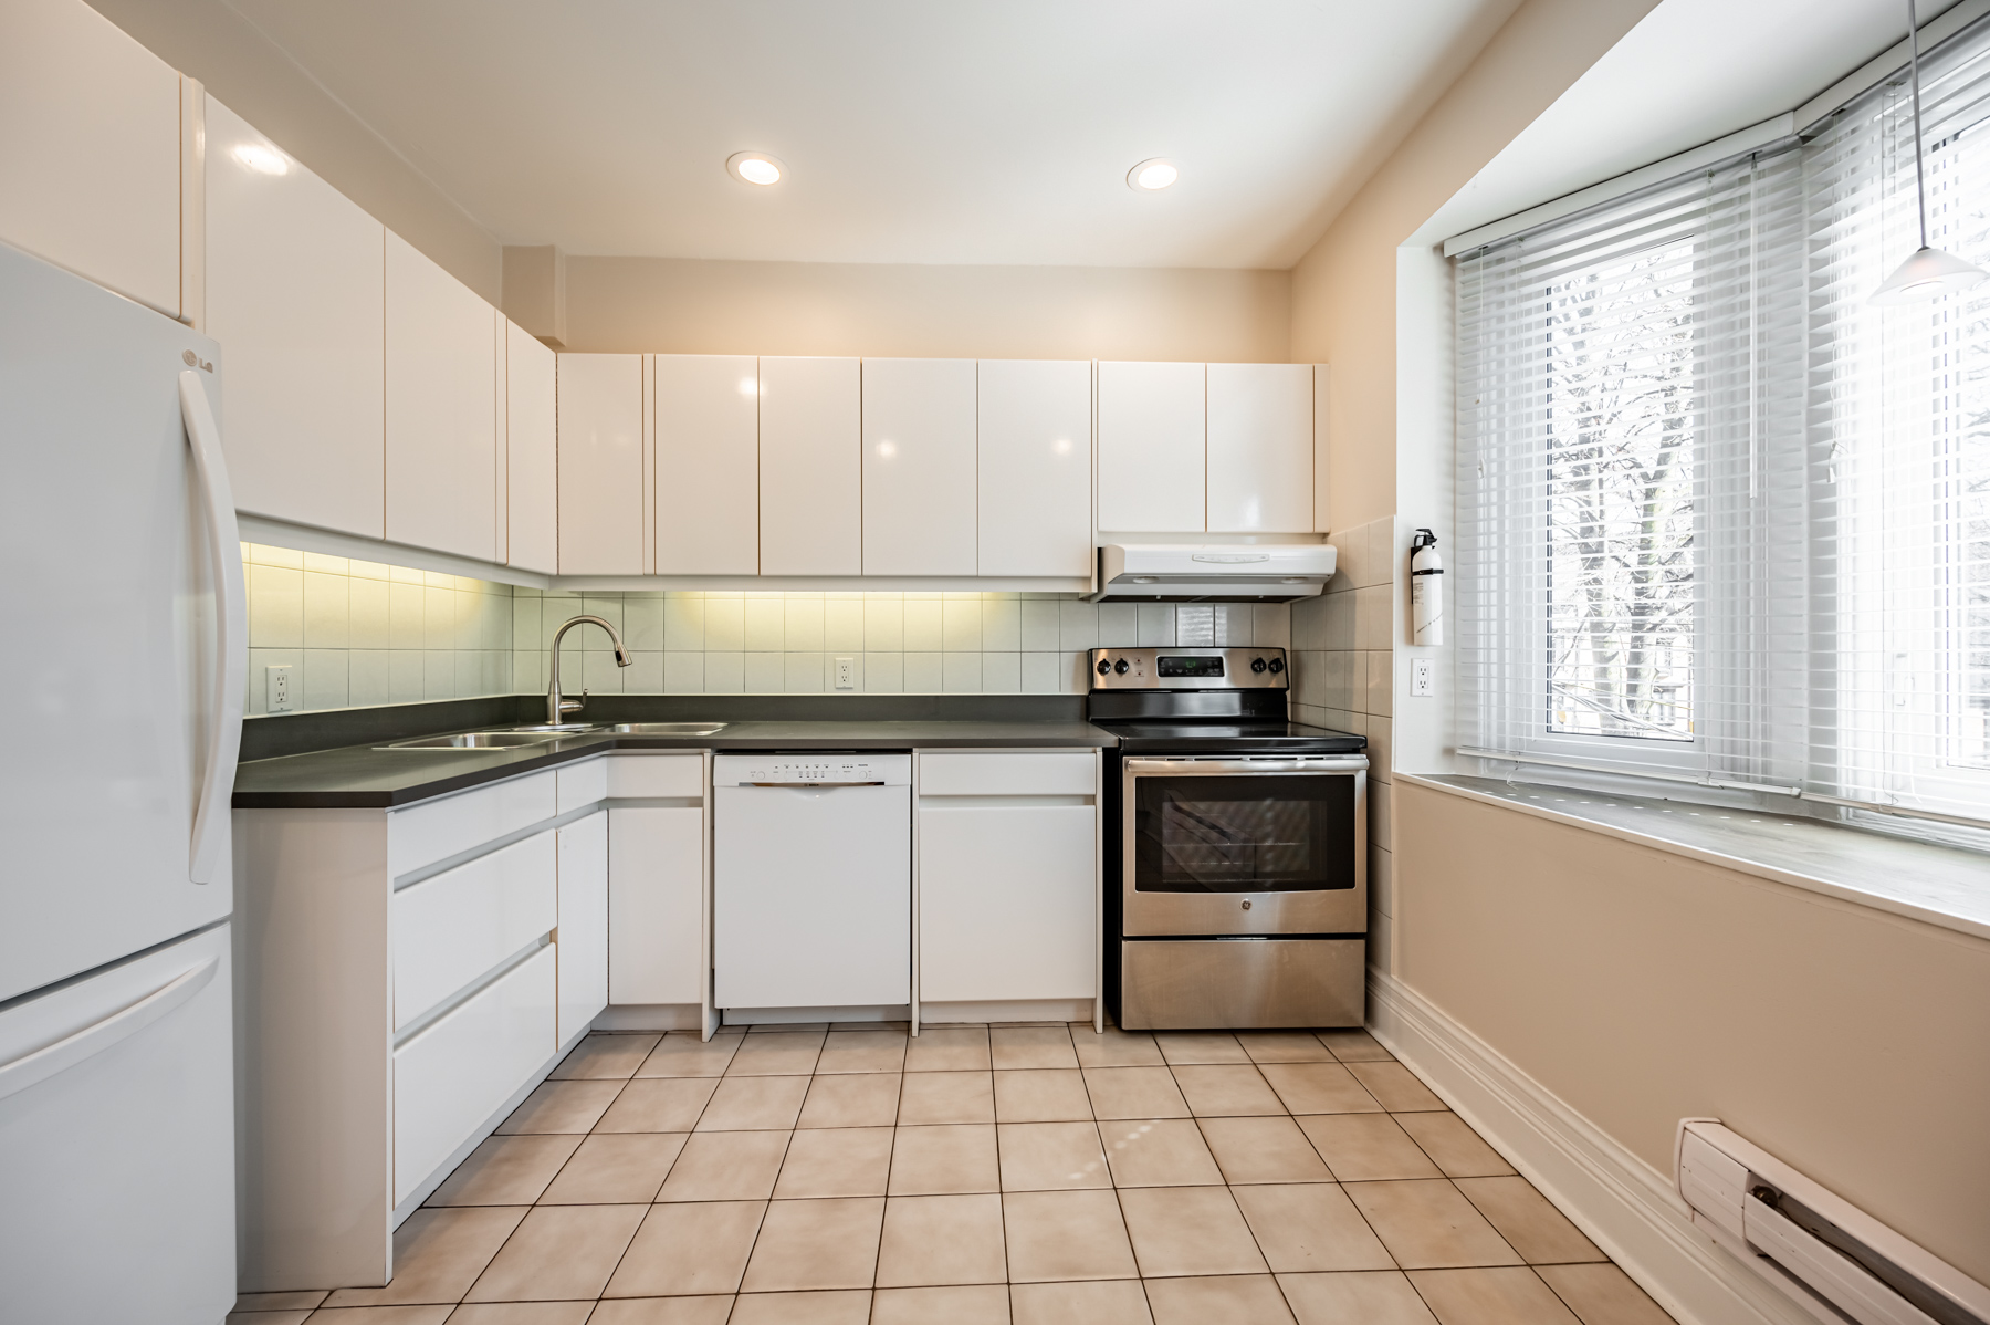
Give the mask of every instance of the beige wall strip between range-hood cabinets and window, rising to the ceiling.
<path id="1" fill-rule="evenodd" d="M 1292 354 L 1333 364 L 1331 519 L 1397 505 L 1397 247 L 1656 0 L 1528 0 L 1292 273 Z"/>

